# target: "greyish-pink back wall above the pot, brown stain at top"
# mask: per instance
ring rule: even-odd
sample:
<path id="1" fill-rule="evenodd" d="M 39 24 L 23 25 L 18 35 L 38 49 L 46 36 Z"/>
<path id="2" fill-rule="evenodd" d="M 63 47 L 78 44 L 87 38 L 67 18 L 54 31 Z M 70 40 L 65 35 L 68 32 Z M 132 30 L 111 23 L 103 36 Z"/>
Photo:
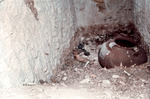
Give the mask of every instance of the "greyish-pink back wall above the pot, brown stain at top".
<path id="1" fill-rule="evenodd" d="M 130 0 L 74 0 L 76 24 L 128 24 L 133 22 Z"/>

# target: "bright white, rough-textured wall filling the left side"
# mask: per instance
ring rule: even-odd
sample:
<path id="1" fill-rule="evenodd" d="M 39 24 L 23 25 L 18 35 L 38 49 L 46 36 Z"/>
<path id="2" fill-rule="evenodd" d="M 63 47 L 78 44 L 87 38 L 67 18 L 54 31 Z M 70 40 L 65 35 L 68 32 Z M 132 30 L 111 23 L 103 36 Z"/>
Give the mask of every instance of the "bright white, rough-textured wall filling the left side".
<path id="1" fill-rule="evenodd" d="M 70 0 L 0 1 L 0 87 L 50 81 L 75 32 Z"/>

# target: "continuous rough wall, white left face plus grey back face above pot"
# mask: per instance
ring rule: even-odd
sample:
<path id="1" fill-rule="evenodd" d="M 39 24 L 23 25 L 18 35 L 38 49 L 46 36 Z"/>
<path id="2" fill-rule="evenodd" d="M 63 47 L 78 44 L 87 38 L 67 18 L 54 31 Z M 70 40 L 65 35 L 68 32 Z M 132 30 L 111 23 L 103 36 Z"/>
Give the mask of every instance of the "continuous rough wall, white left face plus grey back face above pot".
<path id="1" fill-rule="evenodd" d="M 0 0 L 0 87 L 50 82 L 80 26 L 128 24 L 130 1 Z"/>

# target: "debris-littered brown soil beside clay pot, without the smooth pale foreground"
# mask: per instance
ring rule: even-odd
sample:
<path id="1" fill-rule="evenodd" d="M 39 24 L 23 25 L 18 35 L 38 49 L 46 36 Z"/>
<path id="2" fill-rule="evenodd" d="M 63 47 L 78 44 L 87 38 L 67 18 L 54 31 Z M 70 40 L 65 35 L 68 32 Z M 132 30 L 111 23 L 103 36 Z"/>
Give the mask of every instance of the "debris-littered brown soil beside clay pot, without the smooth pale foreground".
<path id="1" fill-rule="evenodd" d="M 98 62 L 101 36 L 82 37 L 82 42 L 69 54 L 68 64 L 54 78 L 57 84 L 82 86 L 102 95 L 101 99 L 148 99 L 150 63 L 134 67 L 102 68 Z M 86 53 L 86 54 L 85 54 Z M 88 54 L 87 54 L 88 53 Z M 101 96 L 100 96 L 101 97 Z"/>

